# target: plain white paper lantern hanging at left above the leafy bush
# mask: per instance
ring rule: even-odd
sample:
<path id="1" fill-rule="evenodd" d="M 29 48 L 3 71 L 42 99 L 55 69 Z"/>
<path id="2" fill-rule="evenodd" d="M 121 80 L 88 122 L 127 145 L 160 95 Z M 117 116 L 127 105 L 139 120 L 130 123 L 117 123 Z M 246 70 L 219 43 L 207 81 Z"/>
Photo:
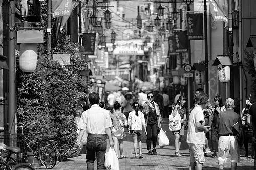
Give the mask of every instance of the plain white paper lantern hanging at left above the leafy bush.
<path id="1" fill-rule="evenodd" d="M 19 68 L 24 72 L 34 72 L 37 62 L 37 43 L 20 44 Z"/>

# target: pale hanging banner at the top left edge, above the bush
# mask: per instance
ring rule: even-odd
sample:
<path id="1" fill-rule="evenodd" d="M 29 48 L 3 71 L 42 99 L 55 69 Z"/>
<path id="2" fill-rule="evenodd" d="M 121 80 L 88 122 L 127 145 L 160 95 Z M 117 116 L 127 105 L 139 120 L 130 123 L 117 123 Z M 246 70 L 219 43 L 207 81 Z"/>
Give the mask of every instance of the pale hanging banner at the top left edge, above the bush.
<path id="1" fill-rule="evenodd" d="M 70 16 L 72 0 L 52 0 L 52 17 Z"/>

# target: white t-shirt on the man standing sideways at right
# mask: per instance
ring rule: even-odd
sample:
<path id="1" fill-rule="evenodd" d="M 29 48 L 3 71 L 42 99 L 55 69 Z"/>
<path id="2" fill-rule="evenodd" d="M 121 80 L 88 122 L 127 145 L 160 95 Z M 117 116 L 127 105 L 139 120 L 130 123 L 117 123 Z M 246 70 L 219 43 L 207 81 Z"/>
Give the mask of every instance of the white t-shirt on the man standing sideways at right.
<path id="1" fill-rule="evenodd" d="M 188 120 L 188 129 L 187 129 L 187 143 L 191 144 L 205 144 L 205 134 L 203 131 L 198 130 L 196 127 L 197 122 L 204 122 L 204 112 L 203 109 L 196 105 L 191 111 L 189 120 Z"/>

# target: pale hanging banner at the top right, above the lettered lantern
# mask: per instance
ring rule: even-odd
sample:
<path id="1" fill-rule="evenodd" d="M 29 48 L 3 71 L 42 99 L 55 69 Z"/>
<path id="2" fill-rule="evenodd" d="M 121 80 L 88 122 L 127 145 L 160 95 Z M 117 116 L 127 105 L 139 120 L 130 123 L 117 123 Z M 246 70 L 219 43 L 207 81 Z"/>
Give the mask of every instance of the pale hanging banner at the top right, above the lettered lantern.
<path id="1" fill-rule="evenodd" d="M 209 0 L 210 11 L 214 21 L 223 21 L 228 23 L 227 2 L 223 0 Z"/>

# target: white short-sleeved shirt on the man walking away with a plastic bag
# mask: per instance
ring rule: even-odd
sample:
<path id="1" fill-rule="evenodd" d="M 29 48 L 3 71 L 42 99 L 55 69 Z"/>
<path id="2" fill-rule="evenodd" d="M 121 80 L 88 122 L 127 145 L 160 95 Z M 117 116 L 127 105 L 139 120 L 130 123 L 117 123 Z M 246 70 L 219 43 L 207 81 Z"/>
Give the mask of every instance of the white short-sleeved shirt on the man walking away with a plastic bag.
<path id="1" fill-rule="evenodd" d="M 78 123 L 78 128 L 86 130 L 88 134 L 106 134 L 105 128 L 112 127 L 109 111 L 92 105 L 84 111 Z"/>

